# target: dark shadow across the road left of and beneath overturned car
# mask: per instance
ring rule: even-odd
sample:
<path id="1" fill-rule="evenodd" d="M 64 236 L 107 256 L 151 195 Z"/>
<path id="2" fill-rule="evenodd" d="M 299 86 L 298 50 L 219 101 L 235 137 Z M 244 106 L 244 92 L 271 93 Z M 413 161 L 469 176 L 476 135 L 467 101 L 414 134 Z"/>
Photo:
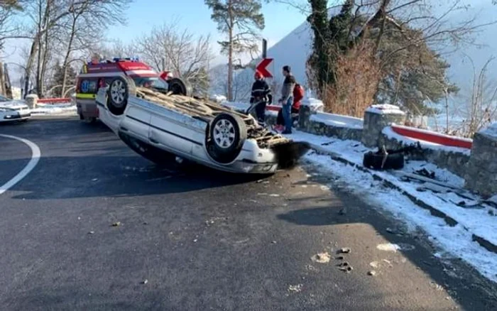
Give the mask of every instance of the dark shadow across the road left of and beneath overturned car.
<path id="1" fill-rule="evenodd" d="M 14 197 L 19 199 L 167 194 L 261 178 L 222 173 L 200 165 L 178 165 L 174 160 L 155 165 L 131 151 L 101 122 L 83 124 L 76 118 L 34 119 L 19 126 L 6 126 L 6 130 L 11 135 L 31 139 L 42 151 L 34 170 L 11 189 L 24 192 Z M 22 168 L 27 160 L 0 158 L 0 170 L 12 166 Z"/>

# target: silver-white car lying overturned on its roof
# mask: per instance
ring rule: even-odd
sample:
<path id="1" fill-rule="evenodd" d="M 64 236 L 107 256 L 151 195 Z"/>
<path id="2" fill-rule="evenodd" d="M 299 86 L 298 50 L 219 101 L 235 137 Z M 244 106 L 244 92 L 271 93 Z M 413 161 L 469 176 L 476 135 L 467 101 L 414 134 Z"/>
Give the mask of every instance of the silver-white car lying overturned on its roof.
<path id="1" fill-rule="evenodd" d="M 99 119 L 148 160 L 164 163 L 175 155 L 227 172 L 274 173 L 309 148 L 271 133 L 249 114 L 184 96 L 189 91 L 180 79 L 167 84 L 136 87 L 116 77 L 97 93 Z"/>

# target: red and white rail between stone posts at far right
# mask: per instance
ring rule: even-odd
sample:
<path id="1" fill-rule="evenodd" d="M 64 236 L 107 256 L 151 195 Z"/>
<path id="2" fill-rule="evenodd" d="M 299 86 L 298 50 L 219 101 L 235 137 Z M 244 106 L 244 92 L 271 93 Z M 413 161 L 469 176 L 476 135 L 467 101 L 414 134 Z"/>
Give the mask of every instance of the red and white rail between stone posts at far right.
<path id="1" fill-rule="evenodd" d="M 419 139 L 421 141 L 427 141 L 430 143 L 437 143 L 443 146 L 466 149 L 471 149 L 471 146 L 473 146 L 473 140 L 469 138 L 449 136 L 442 133 L 416 129 L 409 126 L 392 125 L 391 128 L 395 133 L 398 133 L 399 135 Z"/>

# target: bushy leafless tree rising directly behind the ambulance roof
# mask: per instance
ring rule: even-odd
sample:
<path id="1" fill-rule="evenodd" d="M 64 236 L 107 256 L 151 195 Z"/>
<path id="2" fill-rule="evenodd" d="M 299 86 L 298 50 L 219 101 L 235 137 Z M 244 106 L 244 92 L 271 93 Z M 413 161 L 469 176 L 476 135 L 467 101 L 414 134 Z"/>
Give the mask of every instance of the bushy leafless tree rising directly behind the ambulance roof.
<path id="1" fill-rule="evenodd" d="M 155 70 L 169 70 L 188 80 L 197 94 L 209 86 L 209 62 L 214 58 L 210 36 L 194 36 L 173 23 L 155 27 L 150 34 L 136 38 L 136 50 Z"/>

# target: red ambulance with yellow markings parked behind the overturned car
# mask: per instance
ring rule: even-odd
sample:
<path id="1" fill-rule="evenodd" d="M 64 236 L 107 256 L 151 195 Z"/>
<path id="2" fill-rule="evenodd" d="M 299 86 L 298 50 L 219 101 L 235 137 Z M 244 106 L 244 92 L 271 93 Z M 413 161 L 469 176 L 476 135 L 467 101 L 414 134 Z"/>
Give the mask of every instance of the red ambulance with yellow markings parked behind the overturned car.
<path id="1" fill-rule="evenodd" d="M 84 64 L 76 80 L 77 114 L 88 123 L 97 120 L 99 112 L 95 97 L 100 87 L 109 86 L 115 77 L 130 77 L 137 87 L 168 89 L 166 82 L 172 78 L 170 72 L 155 72 L 138 58 L 114 58 L 99 60 L 92 58 Z"/>

